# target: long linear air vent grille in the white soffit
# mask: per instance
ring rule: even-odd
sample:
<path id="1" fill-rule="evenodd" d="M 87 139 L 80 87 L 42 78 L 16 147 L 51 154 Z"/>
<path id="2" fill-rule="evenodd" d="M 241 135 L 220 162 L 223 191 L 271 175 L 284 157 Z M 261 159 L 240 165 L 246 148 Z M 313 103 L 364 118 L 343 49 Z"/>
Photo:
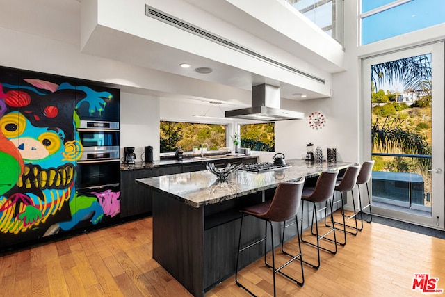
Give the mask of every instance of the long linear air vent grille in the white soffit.
<path id="1" fill-rule="evenodd" d="M 248 54 L 249 56 L 258 58 L 261 61 L 266 61 L 267 63 L 270 63 L 270 64 L 278 66 L 278 67 L 282 67 L 286 70 L 289 70 L 296 74 L 300 74 L 300 75 L 307 77 L 309 79 L 314 79 L 315 81 L 318 81 L 323 84 L 325 83 L 324 79 L 315 77 L 312 74 L 303 72 L 301 70 L 296 69 L 295 67 L 291 67 L 291 66 L 281 63 L 279 61 L 276 61 L 272 58 L 268 58 L 264 55 L 257 53 L 256 51 L 252 51 L 251 49 L 247 49 L 245 47 L 242 47 L 241 45 L 237 45 L 236 43 L 226 40 L 224 38 L 220 38 L 217 35 L 213 35 L 212 33 L 209 33 L 208 31 L 204 31 L 203 29 L 199 29 L 195 26 L 192 26 L 191 24 L 188 24 L 187 22 L 184 22 L 180 19 L 176 19 L 175 17 L 172 17 L 171 15 L 163 13 L 161 10 L 156 10 L 156 9 L 152 8 L 151 6 L 148 6 L 147 4 L 145 5 L 145 15 L 147 15 L 148 17 L 153 17 L 154 19 L 159 19 L 161 22 L 170 24 L 170 25 L 175 26 L 175 27 L 182 29 L 184 31 L 188 31 L 195 35 L 201 36 L 203 38 L 206 38 L 207 40 L 217 42 L 218 44 L 224 45 L 225 47 L 229 47 L 230 49 L 234 49 L 234 50 L 240 51 L 244 54 Z"/>

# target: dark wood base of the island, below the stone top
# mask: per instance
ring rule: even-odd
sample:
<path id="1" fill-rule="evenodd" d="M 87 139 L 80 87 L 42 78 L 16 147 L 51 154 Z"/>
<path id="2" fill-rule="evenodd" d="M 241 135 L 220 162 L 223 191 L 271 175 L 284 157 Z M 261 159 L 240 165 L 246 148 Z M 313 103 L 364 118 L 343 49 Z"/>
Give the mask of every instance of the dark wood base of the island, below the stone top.
<path id="1" fill-rule="evenodd" d="M 193 296 L 204 296 L 217 284 L 234 275 L 241 214 L 239 207 L 257 204 L 273 191 L 257 192 L 238 199 L 200 208 L 188 206 L 163 193 L 153 196 L 153 259 L 176 278 Z M 215 212 L 220 209 L 219 212 Z M 264 234 L 264 221 L 245 218 L 244 244 Z M 276 228 L 276 230 L 275 230 Z M 289 228 L 292 229 L 292 228 Z M 275 242 L 280 244 L 282 225 L 274 226 Z M 296 232 L 289 230 L 286 238 Z M 268 241 L 267 250 L 272 246 Z M 264 255 L 264 247 L 252 248 L 240 259 L 248 266 Z"/>

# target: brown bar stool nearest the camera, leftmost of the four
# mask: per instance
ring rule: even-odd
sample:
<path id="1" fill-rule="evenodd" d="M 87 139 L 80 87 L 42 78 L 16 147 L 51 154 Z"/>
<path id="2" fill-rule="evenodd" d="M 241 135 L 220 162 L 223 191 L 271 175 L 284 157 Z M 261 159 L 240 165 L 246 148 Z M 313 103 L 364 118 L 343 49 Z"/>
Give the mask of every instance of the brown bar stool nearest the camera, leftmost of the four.
<path id="1" fill-rule="evenodd" d="M 305 183 L 305 179 L 302 178 L 298 182 L 282 182 L 281 184 L 278 184 L 275 193 L 273 195 L 273 199 L 267 202 L 263 202 L 257 205 L 253 205 L 251 207 L 245 207 L 244 209 L 241 209 L 241 213 L 243 216 L 241 216 L 241 227 L 239 232 L 239 241 L 238 241 L 238 255 L 236 256 L 236 273 L 235 273 L 235 282 L 238 285 L 238 287 L 242 287 L 246 291 L 248 291 L 250 294 L 254 296 L 254 294 L 243 284 L 241 284 L 238 281 L 238 263 L 239 263 L 239 254 L 240 252 L 243 252 L 244 250 L 247 250 L 248 248 L 251 248 L 252 246 L 257 245 L 258 243 L 264 242 L 264 263 L 268 268 L 272 268 L 273 271 L 273 296 L 276 294 L 276 287 L 275 287 L 275 273 L 280 273 L 284 275 L 286 278 L 289 278 L 289 280 L 292 280 L 293 282 L 296 282 L 296 284 L 302 286 L 305 284 L 305 275 L 303 272 L 303 264 L 302 264 L 302 255 L 301 255 L 301 244 L 300 244 L 300 233 L 298 230 L 297 225 L 297 237 L 298 237 L 298 248 L 299 248 L 299 254 L 296 256 L 292 256 L 292 258 L 280 266 L 280 268 L 275 269 L 275 244 L 273 240 L 273 224 L 272 222 L 284 222 L 285 220 L 289 220 L 293 218 L 293 216 L 296 215 L 298 208 L 300 207 L 301 202 L 301 195 L 302 195 L 302 189 L 303 184 Z M 256 218 L 259 218 L 261 220 L 266 221 L 266 234 L 262 239 L 259 239 L 258 241 L 249 244 L 248 246 L 245 246 L 241 248 L 241 234 L 243 232 L 243 220 L 244 216 L 251 215 Z M 266 261 L 266 247 L 267 247 L 267 225 L 270 225 L 270 237 L 272 239 L 272 266 L 267 263 Z M 293 262 L 295 259 L 300 259 L 300 266 L 301 266 L 301 275 L 302 275 L 302 281 L 298 281 L 295 278 L 292 278 L 290 275 L 284 273 L 281 271 L 284 266 L 287 266 L 291 262 Z"/>

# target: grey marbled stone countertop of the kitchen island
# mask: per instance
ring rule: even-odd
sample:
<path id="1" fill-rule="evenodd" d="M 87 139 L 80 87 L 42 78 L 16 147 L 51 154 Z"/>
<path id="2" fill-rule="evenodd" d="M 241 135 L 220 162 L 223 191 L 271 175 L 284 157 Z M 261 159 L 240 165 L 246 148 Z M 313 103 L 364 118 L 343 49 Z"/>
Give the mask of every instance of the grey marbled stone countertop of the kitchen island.
<path id="1" fill-rule="evenodd" d="M 199 208 L 274 188 L 280 182 L 292 182 L 301 177 L 316 177 L 323 171 L 341 170 L 354 164 L 353 162 L 314 164 L 304 160 L 286 160 L 286 163 L 291 166 L 261 173 L 238 170 L 229 176 L 227 182 L 219 182 L 216 176 L 207 170 L 136 179 L 136 182 L 191 207 Z"/>

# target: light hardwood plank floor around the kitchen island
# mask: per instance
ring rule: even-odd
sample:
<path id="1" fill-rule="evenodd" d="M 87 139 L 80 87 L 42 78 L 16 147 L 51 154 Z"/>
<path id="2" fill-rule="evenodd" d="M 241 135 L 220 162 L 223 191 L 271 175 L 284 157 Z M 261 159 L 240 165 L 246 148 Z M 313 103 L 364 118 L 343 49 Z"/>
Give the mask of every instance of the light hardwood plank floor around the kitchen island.
<path id="1" fill-rule="evenodd" d="M 313 260 L 315 248 L 302 248 Z M 298 277 L 298 263 L 291 265 Z M 420 296 L 414 273 L 439 278 L 437 288 L 445 289 L 445 240 L 366 223 L 337 255 L 323 252 L 321 268 L 305 266 L 304 287 L 277 275 L 277 296 Z M 241 271 L 241 281 L 258 296 L 273 294 L 262 259 Z M 143 218 L 0 254 L 0 296 L 191 295 L 152 259 L 152 219 Z M 231 277 L 206 296 L 250 295 Z"/>

